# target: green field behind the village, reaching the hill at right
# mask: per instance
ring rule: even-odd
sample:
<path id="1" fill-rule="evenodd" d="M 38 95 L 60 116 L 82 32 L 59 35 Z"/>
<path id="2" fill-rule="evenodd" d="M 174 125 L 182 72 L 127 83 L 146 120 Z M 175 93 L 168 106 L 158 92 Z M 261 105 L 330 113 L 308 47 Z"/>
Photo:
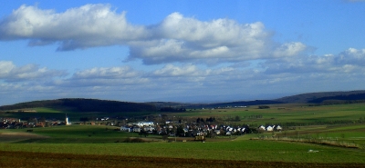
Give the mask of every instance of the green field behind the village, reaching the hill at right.
<path id="1" fill-rule="evenodd" d="M 316 122 L 331 122 L 340 120 L 359 120 L 365 118 L 365 104 L 335 104 L 322 106 L 308 106 L 308 104 L 271 104 L 269 109 L 258 109 L 258 106 L 231 109 L 199 109 L 183 114 L 184 117 L 235 118 L 239 116 L 239 123 L 245 124 L 316 124 Z M 262 115 L 262 118 L 250 116 Z M 235 122 L 232 122 L 235 123 Z"/>

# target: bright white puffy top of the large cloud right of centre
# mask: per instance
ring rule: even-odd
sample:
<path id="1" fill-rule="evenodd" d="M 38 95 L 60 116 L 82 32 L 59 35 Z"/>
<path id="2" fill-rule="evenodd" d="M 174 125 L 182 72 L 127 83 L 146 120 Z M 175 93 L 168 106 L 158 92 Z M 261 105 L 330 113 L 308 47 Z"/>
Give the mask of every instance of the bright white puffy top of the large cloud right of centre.
<path id="1" fill-rule="evenodd" d="M 168 15 L 156 31 L 165 38 L 181 39 L 207 48 L 236 46 L 247 42 L 259 45 L 260 40 L 269 36 L 265 32 L 265 26 L 259 22 L 245 25 L 229 19 L 203 22 L 179 13 Z"/>

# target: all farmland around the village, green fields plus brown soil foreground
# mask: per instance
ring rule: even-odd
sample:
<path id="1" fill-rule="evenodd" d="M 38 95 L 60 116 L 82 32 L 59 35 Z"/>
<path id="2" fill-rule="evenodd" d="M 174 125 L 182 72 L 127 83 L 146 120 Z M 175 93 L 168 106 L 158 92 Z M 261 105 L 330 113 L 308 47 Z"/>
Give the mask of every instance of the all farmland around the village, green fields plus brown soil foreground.
<path id="1" fill-rule="evenodd" d="M 216 117 L 224 124 L 297 124 L 287 130 L 208 138 L 205 143 L 161 135 L 140 137 L 138 133 L 115 131 L 117 126 L 73 124 L 54 127 L 0 130 L 0 166 L 78 167 L 362 167 L 365 166 L 365 104 L 308 106 L 273 104 L 232 109 L 192 109 L 174 117 Z M 39 114 L 62 114 L 42 108 Z M 260 118 L 249 116 L 260 115 Z M 240 121 L 230 120 L 239 116 Z M 346 121 L 346 124 L 336 124 Z M 325 124 L 318 124 L 323 122 Z M 330 123 L 333 124 L 330 124 Z M 352 122 L 352 124 L 351 124 Z M 141 138 L 145 143 L 123 143 Z M 356 144 L 347 148 L 304 140 Z M 292 141 L 287 141 L 292 140 Z M 170 142 L 170 143 L 169 143 Z M 36 159 L 33 159 L 36 158 Z M 30 164 L 26 164 L 30 163 Z M 66 165 L 67 164 L 67 165 Z M 31 166 L 34 165 L 34 166 Z M 244 166 L 245 165 L 245 166 Z"/>

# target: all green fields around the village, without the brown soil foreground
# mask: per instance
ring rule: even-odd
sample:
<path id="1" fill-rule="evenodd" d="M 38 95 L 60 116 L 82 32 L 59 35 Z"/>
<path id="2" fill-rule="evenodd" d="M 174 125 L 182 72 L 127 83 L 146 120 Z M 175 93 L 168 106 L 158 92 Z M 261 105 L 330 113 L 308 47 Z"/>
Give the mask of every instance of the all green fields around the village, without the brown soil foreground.
<path id="1" fill-rule="evenodd" d="M 162 136 L 142 137 L 146 143 L 121 143 L 137 133 L 115 131 L 119 127 L 106 125 L 64 125 L 55 127 L 0 130 L 0 151 L 30 153 L 68 153 L 78 155 L 135 156 L 142 158 L 201 159 L 204 162 L 221 160 L 264 163 L 356 163 L 365 166 L 365 104 L 304 106 L 302 104 L 271 105 L 270 109 L 251 106 L 242 109 L 192 110 L 176 117 L 217 117 L 229 119 L 239 116 L 241 121 L 231 124 L 297 123 L 295 129 L 274 133 L 251 133 L 223 136 L 200 142 L 162 141 Z M 52 109 L 37 109 L 39 114 L 62 114 Z M 247 116 L 262 115 L 253 119 Z M 315 124 L 315 121 L 354 121 L 353 124 Z M 9 136 L 6 135 L 18 135 Z M 30 136 L 29 134 L 36 135 Z M 5 138 L 6 137 L 6 138 Z M 286 139 L 285 139 L 286 138 Z M 193 140 L 193 138 L 191 138 Z M 284 141 L 292 139 L 296 141 Z M 356 148 L 324 143 L 301 143 L 302 140 L 354 143 Z M 300 140 L 300 141 L 299 141 Z M 179 140 L 178 140 L 179 141 Z M 304 142 L 304 141 L 303 141 Z M 57 156 L 58 157 L 58 156 Z M 77 156 L 75 156 L 77 157 Z M 346 165 L 346 164 L 339 164 Z M 280 166 L 279 166 L 280 167 Z"/>

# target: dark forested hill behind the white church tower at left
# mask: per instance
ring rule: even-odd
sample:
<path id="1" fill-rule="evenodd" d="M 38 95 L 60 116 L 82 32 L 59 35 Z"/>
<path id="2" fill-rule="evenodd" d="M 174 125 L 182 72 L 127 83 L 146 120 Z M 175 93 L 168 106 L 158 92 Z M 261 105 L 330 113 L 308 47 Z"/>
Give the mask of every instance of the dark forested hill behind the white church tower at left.
<path id="1" fill-rule="evenodd" d="M 49 107 L 56 109 L 68 109 L 77 112 L 155 112 L 153 104 L 129 103 L 98 99 L 57 99 L 26 102 L 21 104 L 0 106 L 0 111 L 30 109 L 36 107 Z"/>

